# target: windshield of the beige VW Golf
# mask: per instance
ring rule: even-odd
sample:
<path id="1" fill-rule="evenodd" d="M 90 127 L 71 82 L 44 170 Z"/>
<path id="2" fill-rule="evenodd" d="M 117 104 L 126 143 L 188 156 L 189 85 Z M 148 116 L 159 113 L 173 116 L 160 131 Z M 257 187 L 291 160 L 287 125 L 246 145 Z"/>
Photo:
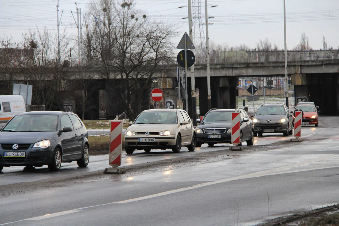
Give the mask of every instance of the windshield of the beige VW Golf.
<path id="1" fill-rule="evenodd" d="M 134 124 L 177 124 L 177 112 L 173 111 L 144 111 Z"/>

